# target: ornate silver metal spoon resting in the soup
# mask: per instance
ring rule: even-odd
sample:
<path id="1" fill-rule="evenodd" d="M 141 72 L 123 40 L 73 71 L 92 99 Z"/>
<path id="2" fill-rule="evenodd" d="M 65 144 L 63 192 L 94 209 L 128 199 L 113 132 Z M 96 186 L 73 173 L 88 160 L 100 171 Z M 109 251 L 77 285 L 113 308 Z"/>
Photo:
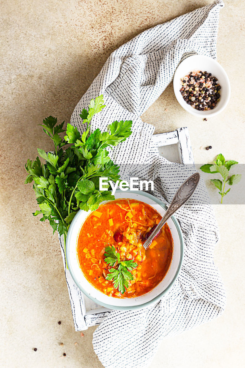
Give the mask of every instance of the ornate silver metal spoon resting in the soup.
<path id="1" fill-rule="evenodd" d="M 185 202 L 187 202 L 189 198 L 191 198 L 192 194 L 196 190 L 199 180 L 200 174 L 195 173 L 192 174 L 187 180 L 185 180 L 183 184 L 181 184 L 180 188 L 175 193 L 174 198 L 172 199 L 172 202 L 170 203 L 165 215 L 157 225 L 156 229 L 152 231 L 149 238 L 143 244 L 145 249 L 149 247 L 153 238 L 161 230 L 167 220 L 174 214 L 174 212 L 177 211 Z"/>

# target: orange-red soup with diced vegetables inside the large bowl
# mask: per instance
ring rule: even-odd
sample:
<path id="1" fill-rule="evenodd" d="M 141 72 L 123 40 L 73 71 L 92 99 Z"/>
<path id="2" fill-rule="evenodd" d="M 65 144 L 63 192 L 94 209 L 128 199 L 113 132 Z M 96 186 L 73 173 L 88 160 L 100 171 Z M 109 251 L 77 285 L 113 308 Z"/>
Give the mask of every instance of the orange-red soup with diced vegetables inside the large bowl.
<path id="1" fill-rule="evenodd" d="M 137 297 L 163 280 L 173 255 L 173 239 L 167 224 L 145 250 L 143 243 L 161 215 L 150 205 L 133 199 L 117 199 L 100 205 L 86 218 L 79 233 L 78 261 L 86 279 L 102 293 L 117 298 Z M 146 235 L 148 234 L 148 236 Z M 133 280 L 124 294 L 106 280 L 111 268 L 104 261 L 105 247 L 114 246 L 120 260 L 137 263 Z"/>

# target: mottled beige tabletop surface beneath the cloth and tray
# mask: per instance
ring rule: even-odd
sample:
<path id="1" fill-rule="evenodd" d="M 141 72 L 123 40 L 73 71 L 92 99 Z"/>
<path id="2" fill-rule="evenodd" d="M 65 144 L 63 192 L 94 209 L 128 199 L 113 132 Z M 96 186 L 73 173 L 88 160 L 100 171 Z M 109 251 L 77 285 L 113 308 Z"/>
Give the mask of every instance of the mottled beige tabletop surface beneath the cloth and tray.
<path id="1" fill-rule="evenodd" d="M 1 0 L 1 367 L 102 367 L 92 347 L 95 328 L 84 337 L 74 331 L 57 235 L 32 216 L 36 199 L 31 185 L 24 185 L 24 164 L 36 157 L 37 147 L 51 148 L 38 124 L 50 114 L 69 121 L 118 46 L 208 3 Z M 220 11 L 218 61 L 232 90 L 226 110 L 207 121 L 190 116 L 170 84 L 142 116 L 156 132 L 187 125 L 196 163 L 210 162 L 220 152 L 245 163 L 242 10 L 241 1 L 226 0 Z M 213 149 L 200 149 L 207 145 Z M 215 321 L 165 339 L 151 368 L 244 367 L 244 210 L 244 205 L 215 205 L 221 240 L 214 259 L 227 290 L 226 311 Z"/>

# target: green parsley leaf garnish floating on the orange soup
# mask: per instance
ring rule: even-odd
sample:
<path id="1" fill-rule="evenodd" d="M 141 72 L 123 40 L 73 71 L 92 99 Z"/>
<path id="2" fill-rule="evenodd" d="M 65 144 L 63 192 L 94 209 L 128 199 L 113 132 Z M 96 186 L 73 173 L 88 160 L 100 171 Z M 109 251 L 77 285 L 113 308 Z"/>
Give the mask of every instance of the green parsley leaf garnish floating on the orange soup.
<path id="1" fill-rule="evenodd" d="M 105 248 L 104 256 L 104 261 L 112 267 L 109 269 L 106 280 L 113 280 L 114 288 L 118 288 L 118 291 L 124 294 L 125 288 L 128 287 L 128 280 L 134 279 L 129 271 L 136 268 L 138 266 L 137 263 L 132 260 L 120 261 L 120 254 L 113 246 Z M 118 263 L 118 268 L 113 268 L 116 263 Z"/>

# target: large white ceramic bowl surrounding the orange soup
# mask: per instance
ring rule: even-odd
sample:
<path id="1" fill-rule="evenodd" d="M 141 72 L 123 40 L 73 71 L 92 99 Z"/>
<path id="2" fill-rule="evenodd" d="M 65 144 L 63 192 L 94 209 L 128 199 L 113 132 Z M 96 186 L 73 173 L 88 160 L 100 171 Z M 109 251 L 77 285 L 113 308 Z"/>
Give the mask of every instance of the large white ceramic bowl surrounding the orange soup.
<path id="1" fill-rule="evenodd" d="M 145 202 L 155 208 L 161 216 L 163 216 L 166 212 L 166 206 L 161 201 L 159 201 L 159 199 L 153 197 L 146 192 L 122 192 L 120 190 L 117 190 L 115 193 L 115 198 L 130 198 Z M 106 202 L 108 201 L 102 202 L 102 204 Z M 174 250 L 170 268 L 164 279 L 153 290 L 142 296 L 136 298 L 113 298 L 103 294 L 101 291 L 93 287 L 92 284 L 90 284 L 85 278 L 79 266 L 77 255 L 77 241 L 81 227 L 86 217 L 88 217 L 89 213 L 91 213 L 91 211 L 85 212 L 83 210 L 79 210 L 77 215 L 72 220 L 66 242 L 66 259 L 68 268 L 70 270 L 72 278 L 74 279 L 79 289 L 81 289 L 87 297 L 89 297 L 97 304 L 103 305 L 103 307 L 107 307 L 110 309 L 140 309 L 159 300 L 173 286 L 173 283 L 177 279 L 182 265 L 184 254 L 184 240 L 182 237 L 180 225 L 175 217 L 172 216 L 171 219 L 167 222 L 173 237 Z"/>

